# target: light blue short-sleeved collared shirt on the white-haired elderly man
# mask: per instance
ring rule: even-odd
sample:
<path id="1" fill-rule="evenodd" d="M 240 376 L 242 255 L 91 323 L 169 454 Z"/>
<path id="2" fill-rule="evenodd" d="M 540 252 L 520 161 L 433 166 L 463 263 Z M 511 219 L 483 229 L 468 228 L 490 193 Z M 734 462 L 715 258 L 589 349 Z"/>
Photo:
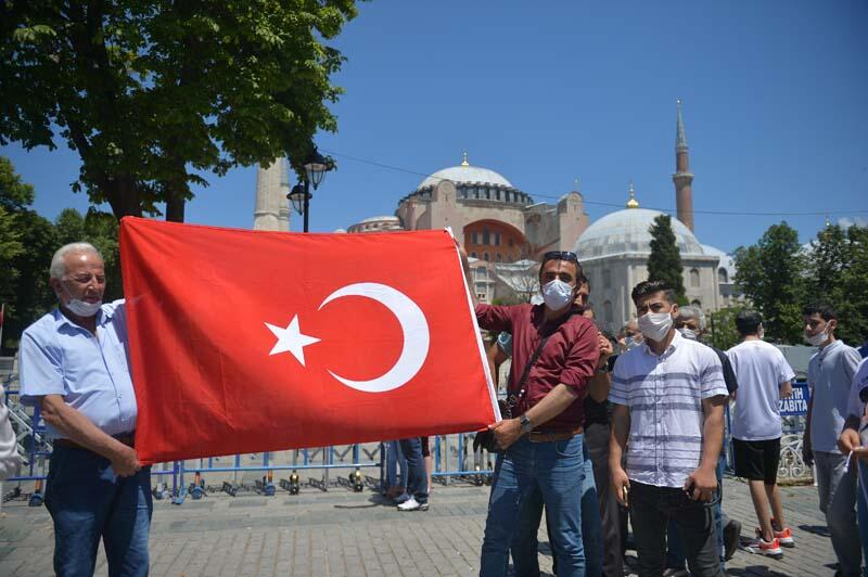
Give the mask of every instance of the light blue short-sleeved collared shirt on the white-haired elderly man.
<path id="1" fill-rule="evenodd" d="M 124 300 L 97 312 L 97 335 L 54 309 L 24 331 L 21 339 L 21 398 L 61 395 L 108 435 L 136 429 L 136 393 L 129 374 Z M 49 437 L 62 435 L 48 427 Z"/>

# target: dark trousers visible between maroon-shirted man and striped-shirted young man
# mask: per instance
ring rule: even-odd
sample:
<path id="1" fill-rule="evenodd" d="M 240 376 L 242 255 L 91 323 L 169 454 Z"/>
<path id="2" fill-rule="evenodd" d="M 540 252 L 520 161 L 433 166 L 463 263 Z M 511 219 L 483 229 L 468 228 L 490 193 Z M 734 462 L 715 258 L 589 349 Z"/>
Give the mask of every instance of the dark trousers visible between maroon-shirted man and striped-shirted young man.
<path id="1" fill-rule="evenodd" d="M 603 575 L 622 577 L 624 557 L 621 551 L 621 520 L 617 499 L 612 491 L 609 476 L 609 433 L 608 424 L 592 423 L 585 427 L 585 446 L 593 464 L 593 480 L 597 485 L 597 501 L 600 504 L 603 542 Z"/>

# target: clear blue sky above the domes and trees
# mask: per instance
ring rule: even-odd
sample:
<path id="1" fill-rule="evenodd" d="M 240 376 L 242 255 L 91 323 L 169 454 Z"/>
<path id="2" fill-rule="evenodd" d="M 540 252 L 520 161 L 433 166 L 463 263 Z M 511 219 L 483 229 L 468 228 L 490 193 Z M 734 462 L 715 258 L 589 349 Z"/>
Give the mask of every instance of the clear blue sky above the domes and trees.
<path id="1" fill-rule="evenodd" d="M 701 242 L 731 251 L 780 220 L 806 242 L 826 213 L 865 222 L 866 26 L 863 0 L 360 4 L 334 42 L 346 93 L 337 133 L 317 141 L 339 168 L 315 193 L 310 229 L 393 214 L 463 150 L 536 201 L 579 178 L 591 219 L 625 202 L 630 178 L 642 206 L 674 210 L 678 98 Z M 65 144 L 0 154 L 36 185 L 42 215 L 87 209 Z M 255 177 L 210 177 L 188 222 L 250 228 Z M 780 215 L 807 211 L 819 214 Z"/>

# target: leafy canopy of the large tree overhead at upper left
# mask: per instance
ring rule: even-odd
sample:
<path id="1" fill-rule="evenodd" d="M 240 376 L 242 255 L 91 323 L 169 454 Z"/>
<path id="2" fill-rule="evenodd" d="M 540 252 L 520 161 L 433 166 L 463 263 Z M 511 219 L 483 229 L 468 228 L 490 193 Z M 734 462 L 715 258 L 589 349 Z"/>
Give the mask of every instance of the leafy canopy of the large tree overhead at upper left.
<path id="1" fill-rule="evenodd" d="M 353 0 L 290 2 L 4 2 L 0 7 L 0 144 L 81 158 L 76 191 L 118 219 L 182 221 L 191 184 L 233 166 L 289 156 L 295 170 L 343 62 L 324 43 Z"/>

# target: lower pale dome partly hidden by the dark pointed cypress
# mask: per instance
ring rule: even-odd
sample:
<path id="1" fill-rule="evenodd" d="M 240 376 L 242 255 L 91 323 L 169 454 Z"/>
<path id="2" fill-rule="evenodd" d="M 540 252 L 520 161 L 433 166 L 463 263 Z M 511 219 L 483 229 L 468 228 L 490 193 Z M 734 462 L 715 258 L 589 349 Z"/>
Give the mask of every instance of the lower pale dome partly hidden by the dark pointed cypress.
<path id="1" fill-rule="evenodd" d="M 625 208 L 593 222 L 576 241 L 579 260 L 624 253 L 651 252 L 651 226 L 663 213 L 648 208 Z M 684 222 L 672 219 L 675 243 L 681 256 L 703 255 L 702 245 Z"/>

